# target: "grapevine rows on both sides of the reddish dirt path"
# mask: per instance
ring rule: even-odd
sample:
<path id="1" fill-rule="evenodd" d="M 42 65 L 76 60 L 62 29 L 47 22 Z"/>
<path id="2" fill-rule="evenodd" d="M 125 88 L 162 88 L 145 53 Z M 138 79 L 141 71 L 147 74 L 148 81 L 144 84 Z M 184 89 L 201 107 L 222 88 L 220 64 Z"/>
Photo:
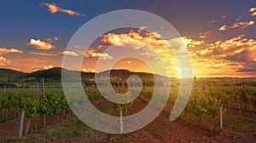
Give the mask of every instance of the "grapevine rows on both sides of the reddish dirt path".
<path id="1" fill-rule="evenodd" d="M 179 82 L 178 79 L 172 80 L 169 100 L 164 108 L 165 112 L 170 113 L 172 111 L 179 90 Z M 60 86 L 56 85 L 55 87 Z M 125 89 L 119 86 L 114 87 L 119 93 L 128 90 L 126 86 L 123 88 Z M 74 90 L 77 89 L 70 89 L 69 92 L 77 93 Z M 112 110 L 111 114 L 113 116 L 119 116 L 119 109 L 123 110 L 123 116 L 129 116 L 134 113 L 131 112 L 131 109 L 137 107 L 136 102 L 116 105 L 107 100 L 102 100 L 102 94 L 94 86 L 84 85 L 84 91 L 94 105 L 105 104 L 103 110 Z M 154 87 L 144 86 L 138 100 L 150 101 L 153 92 Z M 158 96 L 161 95 L 158 94 Z M 75 110 L 75 105 L 88 101 L 76 95 L 68 98 L 70 98 L 68 99 L 70 101 L 69 105 L 73 110 Z M 37 88 L 36 86 L 22 89 L 1 89 L 0 121 L 1 123 L 14 119 L 20 121 L 21 112 L 25 111 L 25 127 L 22 132 L 24 135 L 33 134 L 44 130 L 44 128 L 55 126 L 56 123 L 63 122 L 70 117 L 73 113 L 69 105 L 63 90 L 52 88 L 52 85 L 44 91 L 41 87 Z M 108 109 L 109 106 L 114 109 Z M 194 124 L 202 129 L 219 131 L 225 129 L 225 124 L 221 122 L 226 120 L 224 115 L 227 109 L 234 109 L 238 112 L 252 112 L 253 116 L 248 119 L 252 123 L 252 127 L 247 131 L 255 133 L 255 82 L 195 79 L 189 102 L 179 119 L 184 123 Z M 46 123 L 44 123 L 45 116 Z M 223 119 L 220 120 L 220 117 Z M 15 124 L 16 130 L 19 129 L 19 124 Z M 18 132 L 13 135 L 17 136 Z"/>

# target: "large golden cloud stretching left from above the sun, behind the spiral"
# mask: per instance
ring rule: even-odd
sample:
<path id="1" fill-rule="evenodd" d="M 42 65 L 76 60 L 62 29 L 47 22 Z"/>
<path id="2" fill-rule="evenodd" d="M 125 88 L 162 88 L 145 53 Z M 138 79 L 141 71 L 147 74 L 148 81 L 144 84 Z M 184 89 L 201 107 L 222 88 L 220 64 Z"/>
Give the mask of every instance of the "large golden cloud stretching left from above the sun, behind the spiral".
<path id="1" fill-rule="evenodd" d="M 189 48 L 195 48 L 204 43 L 204 40 L 191 39 L 188 36 L 176 37 L 172 39 L 161 39 L 161 35 L 157 32 L 143 31 L 145 27 L 139 28 L 137 31 L 129 31 L 128 33 L 108 33 L 102 35 L 102 42 L 127 47 L 131 49 L 151 49 L 153 48 L 157 54 L 166 54 L 172 52 L 172 49 L 182 51 L 183 45 Z M 209 34 L 206 32 L 205 34 Z M 148 51 L 147 51 L 148 52 Z M 146 53 L 143 53 L 147 55 Z M 148 53 L 149 54 L 149 53 Z"/>

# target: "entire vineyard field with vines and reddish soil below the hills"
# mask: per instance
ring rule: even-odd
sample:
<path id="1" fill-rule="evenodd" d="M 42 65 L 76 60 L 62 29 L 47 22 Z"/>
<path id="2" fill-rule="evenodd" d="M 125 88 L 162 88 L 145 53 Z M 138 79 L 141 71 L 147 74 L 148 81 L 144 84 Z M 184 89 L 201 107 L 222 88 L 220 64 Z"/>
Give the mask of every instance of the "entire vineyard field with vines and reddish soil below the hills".
<path id="1" fill-rule="evenodd" d="M 256 82 L 227 79 L 195 79 L 189 102 L 176 121 L 169 115 L 177 98 L 179 80 L 172 80 L 164 110 L 143 129 L 128 134 L 105 134 L 85 125 L 73 114 L 78 103 L 90 102 L 102 112 L 119 117 L 141 111 L 151 100 L 154 87 L 144 86 L 131 104 L 109 102 L 94 86 L 84 85 L 89 100 L 69 99 L 60 83 L 41 86 L 27 84 L 23 89 L 1 89 L 1 142 L 253 142 L 256 140 Z M 127 91 L 119 86 L 115 91 Z M 71 92 L 76 93 L 75 89 Z M 157 94 L 161 96 L 161 94 Z M 221 110 L 222 109 L 222 110 Z M 223 114 L 220 114 L 220 110 Z M 21 111 L 26 112 L 23 134 L 18 137 Z M 46 117 L 44 128 L 43 116 Z M 223 117 L 223 128 L 220 127 Z"/>

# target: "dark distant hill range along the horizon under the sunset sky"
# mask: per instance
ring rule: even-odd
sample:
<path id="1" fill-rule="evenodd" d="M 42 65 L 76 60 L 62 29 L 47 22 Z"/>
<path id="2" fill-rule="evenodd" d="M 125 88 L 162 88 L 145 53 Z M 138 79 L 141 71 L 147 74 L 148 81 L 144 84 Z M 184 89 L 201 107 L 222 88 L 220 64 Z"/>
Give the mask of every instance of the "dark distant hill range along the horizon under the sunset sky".
<path id="1" fill-rule="evenodd" d="M 22 82 L 36 82 L 40 81 L 42 77 L 44 77 L 44 81 L 47 83 L 61 83 L 61 70 L 65 70 L 65 75 L 72 79 L 79 73 L 78 71 L 69 71 L 67 69 L 63 69 L 61 67 L 55 67 L 48 70 L 40 70 L 37 72 L 25 73 L 18 72 L 11 69 L 3 69 L 0 68 L 0 83 L 20 83 Z M 109 71 L 94 73 L 94 72 L 80 72 L 82 80 L 84 83 L 95 83 L 95 74 L 99 76 L 108 76 Z M 160 75 L 153 75 L 151 73 L 145 72 L 130 72 L 128 70 L 111 70 L 110 71 L 111 79 L 113 81 L 119 81 L 120 78 L 127 78 L 131 75 L 137 75 L 140 77 L 145 83 L 152 83 L 154 81 L 154 76 L 163 77 Z M 246 77 L 246 78 L 238 78 L 238 77 L 199 77 L 197 80 L 225 80 L 225 81 L 256 81 L 256 77 Z"/>

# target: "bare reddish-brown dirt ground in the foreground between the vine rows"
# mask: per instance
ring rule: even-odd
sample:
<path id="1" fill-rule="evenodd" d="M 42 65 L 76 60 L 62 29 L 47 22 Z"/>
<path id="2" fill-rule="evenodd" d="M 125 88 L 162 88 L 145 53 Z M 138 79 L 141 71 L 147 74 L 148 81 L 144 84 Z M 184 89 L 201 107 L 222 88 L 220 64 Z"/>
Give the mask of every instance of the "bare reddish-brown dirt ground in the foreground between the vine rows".
<path id="1" fill-rule="evenodd" d="M 142 100 L 135 100 L 134 105 L 131 107 L 131 112 L 135 113 L 141 110 L 146 103 Z M 236 110 L 228 111 L 230 113 Z M 248 116 L 248 113 L 245 113 Z M 239 114 L 240 115 L 240 114 Z M 160 115 L 154 119 L 152 123 L 149 123 L 143 129 L 139 129 L 135 132 L 129 134 L 105 134 L 96 131 L 87 138 L 68 138 L 68 139 L 45 139 L 39 138 L 35 140 L 30 140 L 30 142 L 241 142 L 241 143 L 256 143 L 256 133 L 238 133 L 230 131 L 230 129 L 224 129 L 224 131 L 216 134 L 212 133 L 206 129 L 201 129 L 201 127 L 184 123 L 182 120 L 177 119 L 174 122 L 170 122 L 169 114 L 166 112 L 161 112 Z M 54 117 L 53 117 L 54 118 Z M 18 119 L 8 121 L 7 123 L 0 123 L 0 136 L 2 137 L 12 137 L 17 134 L 15 131 L 14 124 L 18 123 Z M 20 142 L 27 142 L 26 138 L 29 136 L 24 136 L 19 140 Z"/>

